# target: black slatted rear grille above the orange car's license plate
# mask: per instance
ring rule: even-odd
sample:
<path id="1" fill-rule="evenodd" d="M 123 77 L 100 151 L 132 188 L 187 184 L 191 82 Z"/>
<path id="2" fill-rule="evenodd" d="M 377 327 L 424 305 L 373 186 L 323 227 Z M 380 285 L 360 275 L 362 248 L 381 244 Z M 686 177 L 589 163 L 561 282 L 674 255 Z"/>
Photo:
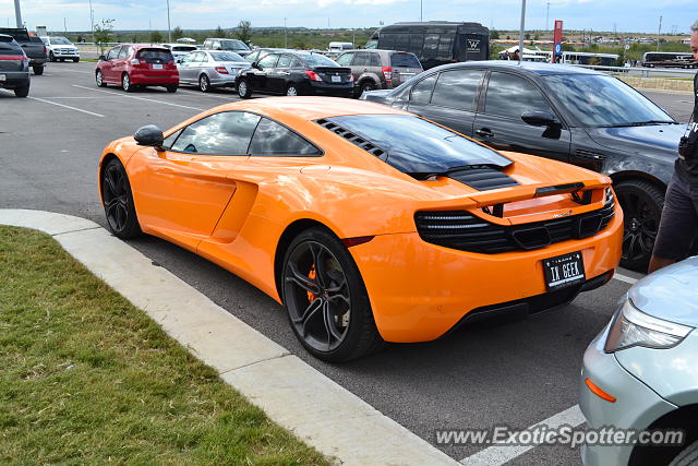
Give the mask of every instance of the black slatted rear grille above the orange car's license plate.
<path id="1" fill-rule="evenodd" d="M 460 251 L 496 254 L 544 248 L 569 239 L 582 239 L 605 229 L 615 199 L 607 189 L 603 207 L 569 217 L 503 226 L 466 211 L 431 211 L 414 214 L 420 237 L 433 244 Z"/>

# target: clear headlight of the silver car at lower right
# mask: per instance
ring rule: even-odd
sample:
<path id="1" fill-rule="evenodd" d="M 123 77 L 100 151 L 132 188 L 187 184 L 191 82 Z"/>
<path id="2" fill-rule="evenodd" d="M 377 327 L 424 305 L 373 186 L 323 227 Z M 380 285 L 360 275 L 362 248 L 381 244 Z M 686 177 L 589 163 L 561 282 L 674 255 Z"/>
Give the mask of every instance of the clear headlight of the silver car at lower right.
<path id="1" fill-rule="evenodd" d="M 641 312 L 629 298 L 615 313 L 603 349 L 619 351 L 633 346 L 672 348 L 688 335 L 693 327 L 657 319 Z"/>

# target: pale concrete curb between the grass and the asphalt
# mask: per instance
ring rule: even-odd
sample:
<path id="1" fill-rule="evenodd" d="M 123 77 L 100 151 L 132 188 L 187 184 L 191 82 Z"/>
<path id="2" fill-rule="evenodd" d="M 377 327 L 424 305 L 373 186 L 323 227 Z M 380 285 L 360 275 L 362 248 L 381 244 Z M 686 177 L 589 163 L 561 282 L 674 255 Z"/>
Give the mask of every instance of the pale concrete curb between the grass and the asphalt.
<path id="1" fill-rule="evenodd" d="M 0 210 L 0 225 L 51 235 L 270 419 L 337 463 L 458 464 L 99 225 L 27 210 Z"/>

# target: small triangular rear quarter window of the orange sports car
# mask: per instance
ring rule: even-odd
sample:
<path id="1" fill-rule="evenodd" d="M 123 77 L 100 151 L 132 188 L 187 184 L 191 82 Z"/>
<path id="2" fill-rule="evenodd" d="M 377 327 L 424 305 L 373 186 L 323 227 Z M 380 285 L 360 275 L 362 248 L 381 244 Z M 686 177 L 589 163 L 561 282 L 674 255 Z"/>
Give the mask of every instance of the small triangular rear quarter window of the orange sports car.
<path id="1" fill-rule="evenodd" d="M 320 155 L 317 147 L 281 124 L 262 118 L 250 144 L 251 155 Z"/>

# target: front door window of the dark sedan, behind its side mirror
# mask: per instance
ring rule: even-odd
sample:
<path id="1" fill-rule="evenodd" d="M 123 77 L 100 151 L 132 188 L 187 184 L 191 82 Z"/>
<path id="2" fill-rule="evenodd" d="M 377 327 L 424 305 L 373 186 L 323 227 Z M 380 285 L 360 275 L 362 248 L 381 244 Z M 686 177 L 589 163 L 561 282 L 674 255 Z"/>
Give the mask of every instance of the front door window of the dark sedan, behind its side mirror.
<path id="1" fill-rule="evenodd" d="M 514 74 L 492 72 L 484 112 L 520 121 L 521 113 L 529 110 L 552 112 L 545 97 L 533 83 Z"/>

